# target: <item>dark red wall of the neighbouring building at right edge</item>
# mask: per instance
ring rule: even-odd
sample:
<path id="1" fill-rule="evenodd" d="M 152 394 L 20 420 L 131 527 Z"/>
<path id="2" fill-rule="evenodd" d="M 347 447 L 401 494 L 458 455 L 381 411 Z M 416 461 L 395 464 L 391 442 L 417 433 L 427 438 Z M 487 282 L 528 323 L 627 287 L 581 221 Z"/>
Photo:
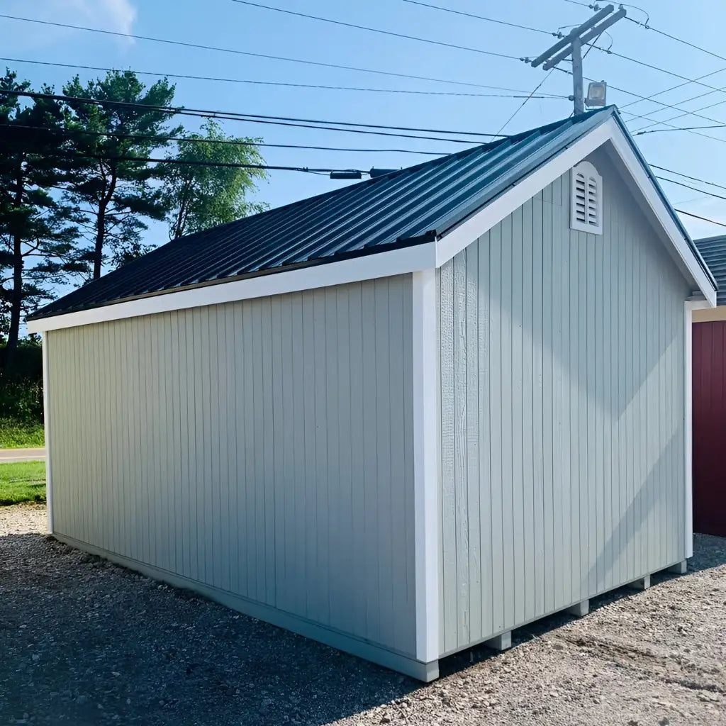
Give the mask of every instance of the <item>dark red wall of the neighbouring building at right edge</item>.
<path id="1" fill-rule="evenodd" d="M 693 529 L 726 537 L 726 322 L 693 325 Z"/>

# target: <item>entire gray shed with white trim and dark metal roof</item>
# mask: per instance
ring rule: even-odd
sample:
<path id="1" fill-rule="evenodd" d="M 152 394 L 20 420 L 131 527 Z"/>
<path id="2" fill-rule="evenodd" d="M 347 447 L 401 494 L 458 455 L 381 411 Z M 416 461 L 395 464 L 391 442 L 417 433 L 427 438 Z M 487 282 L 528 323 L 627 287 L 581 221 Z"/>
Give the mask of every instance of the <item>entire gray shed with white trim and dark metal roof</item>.
<path id="1" fill-rule="evenodd" d="M 613 107 L 49 304 L 58 539 L 422 680 L 683 568 L 716 287 Z"/>

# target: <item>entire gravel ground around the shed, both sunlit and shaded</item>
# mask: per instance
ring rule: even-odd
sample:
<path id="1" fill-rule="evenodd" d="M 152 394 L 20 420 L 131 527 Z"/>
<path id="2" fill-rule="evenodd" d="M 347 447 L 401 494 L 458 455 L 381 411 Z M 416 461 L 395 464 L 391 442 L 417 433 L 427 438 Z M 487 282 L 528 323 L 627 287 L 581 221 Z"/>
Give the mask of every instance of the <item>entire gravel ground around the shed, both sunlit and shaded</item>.
<path id="1" fill-rule="evenodd" d="M 726 539 L 687 576 L 414 680 L 160 585 L 0 507 L 0 725 L 726 725 Z"/>

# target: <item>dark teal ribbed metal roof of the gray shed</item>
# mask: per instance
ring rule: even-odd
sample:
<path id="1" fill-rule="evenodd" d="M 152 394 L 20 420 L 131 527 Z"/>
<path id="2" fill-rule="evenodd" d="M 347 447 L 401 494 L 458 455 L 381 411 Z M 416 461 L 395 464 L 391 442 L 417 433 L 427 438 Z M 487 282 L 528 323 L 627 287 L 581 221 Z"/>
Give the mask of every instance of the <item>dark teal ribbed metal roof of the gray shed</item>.
<path id="1" fill-rule="evenodd" d="M 180 237 L 30 319 L 431 240 L 613 117 L 628 135 L 617 110 L 607 107 Z"/>

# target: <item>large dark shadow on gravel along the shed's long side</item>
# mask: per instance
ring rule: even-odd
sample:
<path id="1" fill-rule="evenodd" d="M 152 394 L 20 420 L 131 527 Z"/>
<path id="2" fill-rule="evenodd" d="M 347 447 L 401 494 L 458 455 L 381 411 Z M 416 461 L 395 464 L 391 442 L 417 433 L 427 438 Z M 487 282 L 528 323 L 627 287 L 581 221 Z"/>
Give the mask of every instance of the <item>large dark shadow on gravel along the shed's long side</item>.
<path id="1" fill-rule="evenodd" d="M 1 722 L 322 726 L 422 687 L 38 534 L 0 537 L 0 643 Z"/>

